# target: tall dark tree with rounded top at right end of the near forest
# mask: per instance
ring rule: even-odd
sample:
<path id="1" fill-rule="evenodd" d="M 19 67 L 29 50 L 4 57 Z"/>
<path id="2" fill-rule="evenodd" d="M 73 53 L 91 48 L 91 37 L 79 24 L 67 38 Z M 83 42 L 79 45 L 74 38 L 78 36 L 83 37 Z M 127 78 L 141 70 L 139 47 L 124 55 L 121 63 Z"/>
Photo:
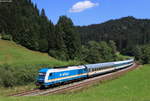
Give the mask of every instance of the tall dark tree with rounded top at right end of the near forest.
<path id="1" fill-rule="evenodd" d="M 58 25 L 64 32 L 63 40 L 67 48 L 68 59 L 74 59 L 81 47 L 79 33 L 75 31 L 72 20 L 66 16 L 59 18 Z"/>

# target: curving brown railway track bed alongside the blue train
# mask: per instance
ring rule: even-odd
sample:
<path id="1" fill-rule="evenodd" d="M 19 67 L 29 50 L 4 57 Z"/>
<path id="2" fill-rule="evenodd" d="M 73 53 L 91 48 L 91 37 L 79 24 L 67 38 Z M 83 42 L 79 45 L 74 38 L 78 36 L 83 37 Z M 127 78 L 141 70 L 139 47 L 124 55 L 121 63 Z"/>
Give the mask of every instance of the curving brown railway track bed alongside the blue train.
<path id="1" fill-rule="evenodd" d="M 115 79 L 131 70 L 136 69 L 138 66 L 139 66 L 138 64 L 134 64 L 131 67 L 121 69 L 116 72 L 111 72 L 111 73 L 108 73 L 105 75 L 96 76 L 94 78 L 85 79 L 85 80 L 82 80 L 79 82 L 74 82 L 71 84 L 67 84 L 67 85 L 63 85 L 63 86 L 59 86 L 59 87 L 55 87 L 55 88 L 51 88 L 51 89 L 44 89 L 44 90 L 33 89 L 30 91 L 23 91 L 23 92 L 20 92 L 17 94 L 9 95 L 9 96 L 38 96 L 38 95 L 66 93 L 66 92 L 69 92 L 72 90 L 78 90 L 78 89 L 85 88 L 85 87 L 87 87 L 87 85 L 92 85 L 92 84 L 95 84 L 98 82 Z"/>

